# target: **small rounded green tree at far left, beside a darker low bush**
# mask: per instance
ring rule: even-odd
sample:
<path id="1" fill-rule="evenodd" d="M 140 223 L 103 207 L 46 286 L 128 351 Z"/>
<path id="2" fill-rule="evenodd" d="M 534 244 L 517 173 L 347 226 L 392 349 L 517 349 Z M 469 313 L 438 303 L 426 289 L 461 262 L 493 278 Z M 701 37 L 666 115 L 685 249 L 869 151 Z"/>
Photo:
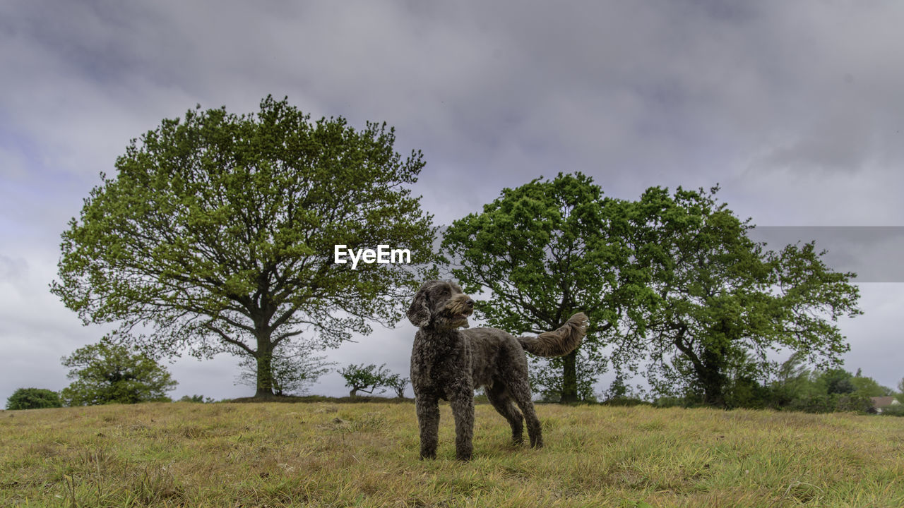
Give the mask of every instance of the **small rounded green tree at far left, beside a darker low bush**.
<path id="1" fill-rule="evenodd" d="M 145 353 L 107 340 L 75 350 L 62 364 L 73 380 L 61 391 L 67 406 L 168 401 L 166 392 L 177 384 Z"/>

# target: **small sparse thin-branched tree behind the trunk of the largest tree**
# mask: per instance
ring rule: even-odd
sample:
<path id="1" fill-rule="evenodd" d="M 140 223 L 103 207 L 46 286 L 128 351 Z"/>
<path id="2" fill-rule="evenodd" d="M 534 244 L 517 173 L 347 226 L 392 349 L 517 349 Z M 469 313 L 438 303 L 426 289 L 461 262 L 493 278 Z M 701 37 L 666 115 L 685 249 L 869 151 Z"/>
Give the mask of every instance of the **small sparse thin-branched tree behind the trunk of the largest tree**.
<path id="1" fill-rule="evenodd" d="M 274 351 L 270 360 L 273 373 L 273 394 L 278 397 L 305 394 L 317 378 L 330 371 L 335 362 L 325 362 L 325 356 L 311 356 L 309 344 L 286 343 Z M 236 380 L 240 384 L 258 385 L 258 363 L 251 356 L 243 356 L 239 364 L 241 372 Z"/>

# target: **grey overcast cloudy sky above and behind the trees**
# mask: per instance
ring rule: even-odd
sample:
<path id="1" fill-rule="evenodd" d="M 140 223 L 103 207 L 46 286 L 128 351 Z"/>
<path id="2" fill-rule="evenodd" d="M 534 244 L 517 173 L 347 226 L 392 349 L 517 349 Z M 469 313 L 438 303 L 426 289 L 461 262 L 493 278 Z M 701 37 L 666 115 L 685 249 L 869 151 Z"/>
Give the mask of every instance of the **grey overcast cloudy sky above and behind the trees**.
<path id="1" fill-rule="evenodd" d="M 901 24 L 895 0 L 0 3 L 0 400 L 60 390 L 60 357 L 105 333 L 48 291 L 61 231 L 129 139 L 195 104 L 251 112 L 273 94 L 386 121 L 400 152 L 424 152 L 415 191 L 438 223 L 581 171 L 625 199 L 720 183 L 759 226 L 900 226 Z M 894 386 L 904 278 L 883 269 L 839 325 L 846 368 Z M 407 373 L 413 333 L 328 354 Z M 175 362 L 173 395 L 250 394 L 236 363 Z"/>

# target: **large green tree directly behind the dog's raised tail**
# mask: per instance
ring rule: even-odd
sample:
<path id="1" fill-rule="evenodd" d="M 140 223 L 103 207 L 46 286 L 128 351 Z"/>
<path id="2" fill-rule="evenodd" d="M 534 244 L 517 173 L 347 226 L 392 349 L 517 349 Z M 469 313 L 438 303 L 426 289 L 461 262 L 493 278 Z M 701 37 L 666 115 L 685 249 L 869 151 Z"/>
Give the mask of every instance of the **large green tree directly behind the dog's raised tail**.
<path id="1" fill-rule="evenodd" d="M 604 198 L 583 174 L 559 174 L 504 189 L 481 213 L 455 221 L 441 252 L 467 292 L 485 292 L 476 312 L 515 334 L 555 330 L 589 317 L 579 349 L 539 362 L 533 381 L 565 402 L 588 398 L 607 368 L 605 347 L 649 295 L 624 241 L 626 203 Z"/>

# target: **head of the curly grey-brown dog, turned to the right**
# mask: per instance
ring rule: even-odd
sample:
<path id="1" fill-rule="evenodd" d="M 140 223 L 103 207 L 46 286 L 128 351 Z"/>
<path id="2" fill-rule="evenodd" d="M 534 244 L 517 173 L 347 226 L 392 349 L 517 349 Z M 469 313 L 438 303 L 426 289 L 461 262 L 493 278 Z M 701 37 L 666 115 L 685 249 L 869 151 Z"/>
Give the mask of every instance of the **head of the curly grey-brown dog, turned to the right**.
<path id="1" fill-rule="evenodd" d="M 408 309 L 411 325 L 419 328 L 467 328 L 467 316 L 474 312 L 474 300 L 450 280 L 431 280 L 420 287 Z"/>

